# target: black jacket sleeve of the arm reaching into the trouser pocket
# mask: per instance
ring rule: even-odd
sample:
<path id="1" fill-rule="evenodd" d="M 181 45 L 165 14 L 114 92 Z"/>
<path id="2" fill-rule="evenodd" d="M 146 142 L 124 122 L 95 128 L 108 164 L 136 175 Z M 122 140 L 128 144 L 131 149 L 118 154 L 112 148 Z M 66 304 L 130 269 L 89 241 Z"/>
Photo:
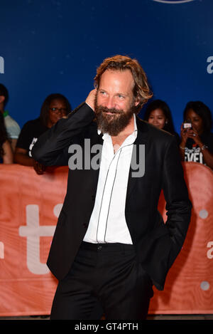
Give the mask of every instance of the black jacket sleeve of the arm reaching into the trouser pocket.
<path id="1" fill-rule="evenodd" d="M 168 219 L 166 225 L 169 230 L 172 247 L 170 250 L 170 267 L 182 248 L 190 224 L 192 204 L 188 198 L 184 180 L 178 145 L 175 140 L 169 142 L 165 151 L 163 166 L 163 193 Z"/>

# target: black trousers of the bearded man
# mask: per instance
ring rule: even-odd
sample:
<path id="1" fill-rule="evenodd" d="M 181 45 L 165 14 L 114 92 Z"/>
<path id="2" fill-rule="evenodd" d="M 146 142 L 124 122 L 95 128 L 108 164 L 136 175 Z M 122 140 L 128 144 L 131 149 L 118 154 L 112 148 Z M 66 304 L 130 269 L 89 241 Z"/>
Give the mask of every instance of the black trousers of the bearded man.
<path id="1" fill-rule="evenodd" d="M 153 284 L 132 245 L 82 242 L 58 283 L 50 319 L 146 319 Z"/>

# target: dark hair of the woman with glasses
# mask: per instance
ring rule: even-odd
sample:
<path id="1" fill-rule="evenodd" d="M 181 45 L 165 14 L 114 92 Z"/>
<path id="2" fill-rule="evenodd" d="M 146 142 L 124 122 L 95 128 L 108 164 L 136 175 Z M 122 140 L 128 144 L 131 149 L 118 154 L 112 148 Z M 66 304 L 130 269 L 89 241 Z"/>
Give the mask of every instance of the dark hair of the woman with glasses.
<path id="1" fill-rule="evenodd" d="M 66 105 L 67 114 L 70 113 L 70 111 L 72 110 L 70 102 L 67 100 L 67 98 L 65 98 L 64 95 L 60 93 L 54 93 L 48 95 L 48 97 L 45 98 L 43 105 L 40 108 L 40 116 L 39 116 L 41 122 L 43 122 L 43 125 L 45 125 L 46 127 L 48 126 L 50 103 L 53 100 L 62 100 Z"/>

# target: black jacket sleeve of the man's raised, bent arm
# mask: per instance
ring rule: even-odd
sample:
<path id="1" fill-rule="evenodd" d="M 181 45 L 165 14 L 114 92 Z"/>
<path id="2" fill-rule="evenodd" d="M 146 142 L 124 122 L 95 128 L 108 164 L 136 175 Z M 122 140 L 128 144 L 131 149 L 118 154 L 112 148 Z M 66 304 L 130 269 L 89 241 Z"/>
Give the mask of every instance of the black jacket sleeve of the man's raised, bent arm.
<path id="1" fill-rule="evenodd" d="M 41 135 L 32 150 L 32 157 L 46 166 L 67 165 L 68 147 L 72 138 L 80 134 L 94 119 L 93 110 L 82 103 Z"/>

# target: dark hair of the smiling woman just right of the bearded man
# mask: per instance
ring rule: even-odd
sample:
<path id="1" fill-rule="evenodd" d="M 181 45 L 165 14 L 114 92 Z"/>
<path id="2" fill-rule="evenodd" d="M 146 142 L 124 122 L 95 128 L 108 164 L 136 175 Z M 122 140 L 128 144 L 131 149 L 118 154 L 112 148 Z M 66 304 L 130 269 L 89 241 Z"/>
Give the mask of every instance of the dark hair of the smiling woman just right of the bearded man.
<path id="1" fill-rule="evenodd" d="M 173 118 L 170 111 L 170 108 L 167 103 L 163 100 L 153 100 L 148 107 L 146 108 L 146 112 L 144 114 L 143 120 L 148 121 L 148 118 L 151 114 L 151 112 L 155 109 L 160 109 L 163 111 L 163 114 L 165 115 L 165 118 L 167 120 L 165 126 L 163 127 L 163 130 L 170 132 L 172 135 L 175 133 L 175 127 L 173 125 Z"/>

